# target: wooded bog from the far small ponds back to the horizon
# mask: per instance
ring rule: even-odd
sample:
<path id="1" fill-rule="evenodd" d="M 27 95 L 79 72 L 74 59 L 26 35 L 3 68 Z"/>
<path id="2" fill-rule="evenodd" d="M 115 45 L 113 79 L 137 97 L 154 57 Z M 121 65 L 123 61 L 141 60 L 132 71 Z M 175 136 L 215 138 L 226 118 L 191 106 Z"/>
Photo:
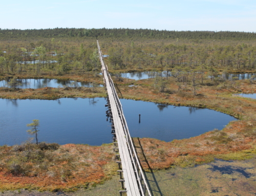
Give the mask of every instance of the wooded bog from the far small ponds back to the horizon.
<path id="1" fill-rule="evenodd" d="M 96 38 L 113 72 L 255 72 L 256 33 L 150 29 L 0 30 L 4 73 L 99 72 Z M 200 69 L 201 71 L 198 71 Z M 182 71 L 181 71 L 182 70 Z M 185 70 L 185 71 L 184 71 Z"/>

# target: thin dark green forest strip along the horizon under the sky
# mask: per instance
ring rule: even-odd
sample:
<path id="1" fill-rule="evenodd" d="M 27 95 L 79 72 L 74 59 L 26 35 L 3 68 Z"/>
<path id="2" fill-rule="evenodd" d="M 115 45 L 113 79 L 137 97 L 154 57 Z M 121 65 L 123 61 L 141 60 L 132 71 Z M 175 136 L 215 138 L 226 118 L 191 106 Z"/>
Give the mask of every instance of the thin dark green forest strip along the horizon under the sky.
<path id="1" fill-rule="evenodd" d="M 230 40 L 256 40 L 254 32 L 231 31 L 166 31 L 152 29 L 0 29 L 0 39 L 32 38 L 32 37 L 91 37 L 91 38 L 155 38 L 155 39 L 230 39 Z"/>

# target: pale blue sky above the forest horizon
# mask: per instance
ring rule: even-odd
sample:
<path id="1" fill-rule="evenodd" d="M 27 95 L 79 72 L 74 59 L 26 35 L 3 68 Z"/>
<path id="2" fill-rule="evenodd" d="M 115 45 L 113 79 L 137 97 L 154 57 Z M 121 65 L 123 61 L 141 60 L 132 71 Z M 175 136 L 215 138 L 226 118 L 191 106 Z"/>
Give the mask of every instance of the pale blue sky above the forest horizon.
<path id="1" fill-rule="evenodd" d="M 132 28 L 256 32 L 255 0 L 9 0 L 0 28 Z"/>

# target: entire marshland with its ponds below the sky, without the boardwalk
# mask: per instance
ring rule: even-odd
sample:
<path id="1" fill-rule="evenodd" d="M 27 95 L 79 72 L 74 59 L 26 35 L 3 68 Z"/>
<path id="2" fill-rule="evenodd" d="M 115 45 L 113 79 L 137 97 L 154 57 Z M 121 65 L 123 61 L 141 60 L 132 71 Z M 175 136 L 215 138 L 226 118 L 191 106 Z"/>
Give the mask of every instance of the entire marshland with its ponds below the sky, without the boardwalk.
<path id="1" fill-rule="evenodd" d="M 256 91 L 255 33 L 0 32 L 3 195 L 120 186 L 96 37 L 154 195 L 255 192 L 256 100 L 238 95 Z M 26 133 L 33 119 L 38 145 Z"/>

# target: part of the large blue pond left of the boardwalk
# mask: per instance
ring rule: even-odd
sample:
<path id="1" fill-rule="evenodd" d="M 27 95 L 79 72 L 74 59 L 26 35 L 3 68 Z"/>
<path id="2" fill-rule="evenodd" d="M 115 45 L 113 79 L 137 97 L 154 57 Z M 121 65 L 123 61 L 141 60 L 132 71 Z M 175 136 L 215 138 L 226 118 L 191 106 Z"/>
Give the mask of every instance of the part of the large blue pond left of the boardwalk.
<path id="1" fill-rule="evenodd" d="M 26 141 L 31 137 L 26 132 L 26 124 L 33 119 L 40 121 L 39 142 L 111 143 L 110 123 L 105 121 L 104 98 L 88 100 L 0 99 L 0 145 Z"/>

